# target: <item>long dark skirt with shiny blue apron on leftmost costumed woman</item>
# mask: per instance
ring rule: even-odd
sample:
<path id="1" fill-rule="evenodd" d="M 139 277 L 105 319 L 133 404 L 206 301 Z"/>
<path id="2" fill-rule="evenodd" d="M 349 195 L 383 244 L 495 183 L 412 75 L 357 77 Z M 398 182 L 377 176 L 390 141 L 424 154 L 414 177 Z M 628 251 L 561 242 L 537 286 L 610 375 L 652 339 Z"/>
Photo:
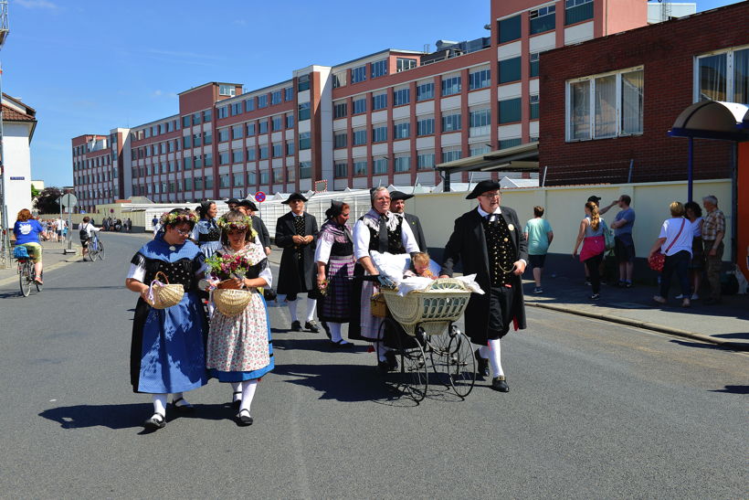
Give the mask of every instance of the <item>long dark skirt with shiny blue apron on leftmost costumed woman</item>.
<path id="1" fill-rule="evenodd" d="M 185 293 L 180 303 L 166 309 L 138 299 L 132 322 L 132 389 L 164 394 L 205 386 L 206 326 L 196 293 Z"/>

